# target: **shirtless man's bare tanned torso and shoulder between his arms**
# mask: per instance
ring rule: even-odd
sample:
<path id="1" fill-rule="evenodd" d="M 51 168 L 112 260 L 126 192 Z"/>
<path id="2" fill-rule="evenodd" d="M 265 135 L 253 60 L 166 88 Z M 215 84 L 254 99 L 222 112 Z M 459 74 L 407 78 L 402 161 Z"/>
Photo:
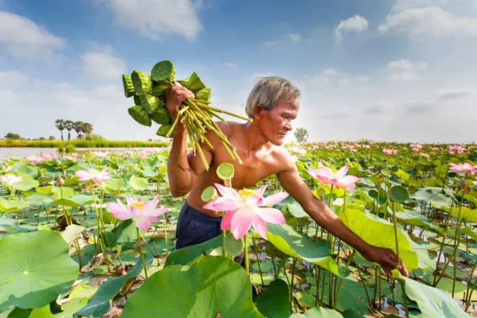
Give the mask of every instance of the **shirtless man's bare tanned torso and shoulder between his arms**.
<path id="1" fill-rule="evenodd" d="M 200 210 L 212 217 L 219 217 L 221 213 L 203 209 L 202 206 L 204 206 L 206 202 L 201 200 L 201 193 L 204 191 L 204 188 L 213 186 L 214 183 L 221 183 L 216 173 L 219 164 L 228 162 L 234 165 L 235 172 L 232 186 L 239 190 L 242 188 L 251 188 L 268 175 L 283 171 L 288 167 L 291 160 L 283 147 L 271 143 L 262 145 L 257 149 L 248 149 L 246 147 L 247 140 L 254 138 L 254 136 L 247 131 L 245 124 L 236 123 L 234 121 L 220 121 L 217 122 L 217 125 L 221 128 L 223 134 L 227 136 L 229 142 L 236 147 L 236 152 L 241 158 L 242 164 L 230 158 L 230 154 L 228 154 L 228 151 L 223 147 L 217 136 L 214 134 L 207 135 L 208 140 L 214 148 L 210 149 L 210 153 L 212 154 L 210 169 L 204 171 L 204 173 L 199 176 L 199 179 L 188 195 L 187 203 L 196 210 Z M 196 156 L 198 157 L 199 155 L 197 154 Z M 201 164 L 201 162 L 198 164 Z"/>

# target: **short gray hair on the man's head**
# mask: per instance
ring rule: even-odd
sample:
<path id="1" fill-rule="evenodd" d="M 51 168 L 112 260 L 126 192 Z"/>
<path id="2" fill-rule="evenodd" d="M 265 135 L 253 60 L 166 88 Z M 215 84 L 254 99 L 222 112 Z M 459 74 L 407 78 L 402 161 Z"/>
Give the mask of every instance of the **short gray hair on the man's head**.
<path id="1" fill-rule="evenodd" d="M 300 95 L 299 88 L 282 77 L 258 77 L 258 81 L 247 97 L 245 111 L 249 118 L 253 118 L 254 108 L 257 105 L 270 111 L 280 102 L 299 103 Z"/>

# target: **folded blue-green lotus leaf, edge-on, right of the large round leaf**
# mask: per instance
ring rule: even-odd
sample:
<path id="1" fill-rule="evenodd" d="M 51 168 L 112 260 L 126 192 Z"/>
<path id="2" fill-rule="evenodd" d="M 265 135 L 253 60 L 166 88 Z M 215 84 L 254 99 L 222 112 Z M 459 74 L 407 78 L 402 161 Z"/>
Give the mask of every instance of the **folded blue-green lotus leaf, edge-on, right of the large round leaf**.
<path id="1" fill-rule="evenodd" d="M 147 265 L 151 264 L 153 259 L 154 258 L 151 254 L 145 254 L 145 262 Z M 99 289 L 96 291 L 95 295 L 88 299 L 86 306 L 78 310 L 73 317 L 77 318 L 79 315 L 82 317 L 88 317 L 90 315 L 93 317 L 101 317 L 102 315 L 108 313 L 110 310 L 110 299 L 119 293 L 127 280 L 134 279 L 139 276 L 142 269 L 143 260 L 142 258 L 138 257 L 134 267 L 125 275 L 119 277 L 110 277 L 108 280 L 106 280 L 106 282 L 103 282 L 103 284 L 99 286 Z"/>

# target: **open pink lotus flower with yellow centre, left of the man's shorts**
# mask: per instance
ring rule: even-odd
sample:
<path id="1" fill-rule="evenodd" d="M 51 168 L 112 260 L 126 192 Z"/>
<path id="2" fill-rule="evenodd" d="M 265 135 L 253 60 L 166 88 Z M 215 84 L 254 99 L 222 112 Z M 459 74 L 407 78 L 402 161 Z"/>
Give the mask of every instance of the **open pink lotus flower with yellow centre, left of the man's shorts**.
<path id="1" fill-rule="evenodd" d="M 119 220 L 133 219 L 136 227 L 143 232 L 147 232 L 151 228 L 152 222 L 158 222 L 158 217 L 170 212 L 167 208 L 157 208 L 158 195 L 149 202 L 145 202 L 143 199 L 132 199 L 127 195 L 127 207 L 120 199 L 116 199 L 116 201 L 117 204 L 111 202 L 106 204 L 111 210 L 111 215 Z"/>

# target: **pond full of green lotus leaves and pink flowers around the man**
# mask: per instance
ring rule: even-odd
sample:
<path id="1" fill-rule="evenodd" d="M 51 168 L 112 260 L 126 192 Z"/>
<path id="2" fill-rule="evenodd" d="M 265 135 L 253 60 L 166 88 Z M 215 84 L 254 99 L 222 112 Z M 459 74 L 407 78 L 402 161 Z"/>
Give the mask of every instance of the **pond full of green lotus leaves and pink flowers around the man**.
<path id="1" fill-rule="evenodd" d="M 0 162 L 0 317 L 476 316 L 475 145 L 287 147 L 315 196 L 397 252 L 408 278 L 386 276 L 291 197 L 273 205 L 286 223 L 267 223 L 267 239 L 250 230 L 238 247 L 218 236 L 176 250 L 185 197 L 169 191 L 167 149 L 41 154 Z M 344 166 L 356 188 L 309 172 Z M 282 191 L 265 184 L 264 197 Z M 151 215 L 119 217 L 121 206 Z"/>

